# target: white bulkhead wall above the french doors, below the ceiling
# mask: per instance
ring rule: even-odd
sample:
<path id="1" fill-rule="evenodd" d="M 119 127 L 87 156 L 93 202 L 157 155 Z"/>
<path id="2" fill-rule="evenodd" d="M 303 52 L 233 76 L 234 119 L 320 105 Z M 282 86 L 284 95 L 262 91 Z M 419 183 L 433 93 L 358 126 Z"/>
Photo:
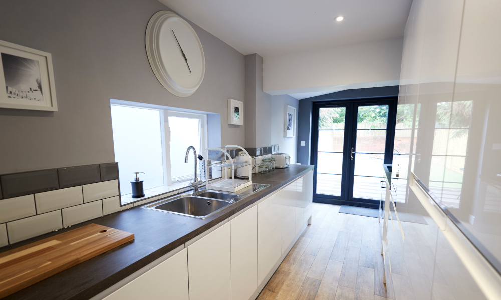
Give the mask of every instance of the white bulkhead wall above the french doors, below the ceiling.
<path id="1" fill-rule="evenodd" d="M 403 39 L 263 57 L 263 91 L 292 94 L 398 85 Z"/>

